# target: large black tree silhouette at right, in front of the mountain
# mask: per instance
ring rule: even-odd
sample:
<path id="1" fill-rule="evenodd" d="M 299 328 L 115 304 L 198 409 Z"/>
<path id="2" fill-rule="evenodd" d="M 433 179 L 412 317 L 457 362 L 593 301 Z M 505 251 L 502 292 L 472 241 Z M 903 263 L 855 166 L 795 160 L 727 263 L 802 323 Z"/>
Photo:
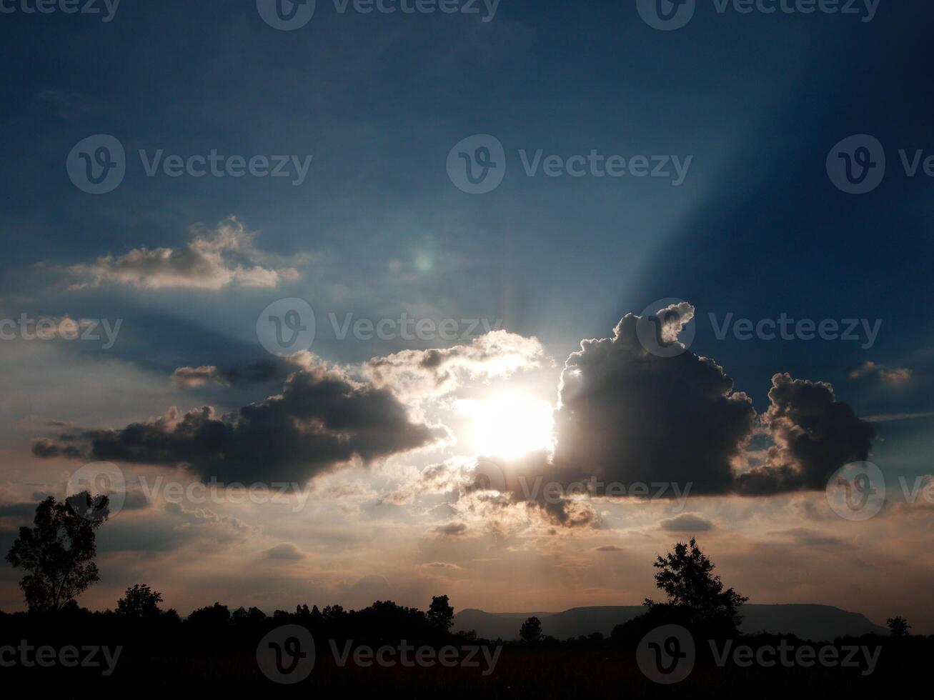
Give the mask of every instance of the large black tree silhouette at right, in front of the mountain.
<path id="1" fill-rule="evenodd" d="M 714 564 L 694 538 L 688 544 L 675 544 L 674 552 L 659 556 L 653 566 L 658 568 L 656 585 L 668 595 L 668 605 L 684 611 L 689 622 L 728 619 L 739 624 L 742 620 L 737 609 L 749 598 L 732 588 L 723 590 L 723 581 L 714 575 Z M 659 604 L 645 598 L 645 605 L 652 609 Z"/>

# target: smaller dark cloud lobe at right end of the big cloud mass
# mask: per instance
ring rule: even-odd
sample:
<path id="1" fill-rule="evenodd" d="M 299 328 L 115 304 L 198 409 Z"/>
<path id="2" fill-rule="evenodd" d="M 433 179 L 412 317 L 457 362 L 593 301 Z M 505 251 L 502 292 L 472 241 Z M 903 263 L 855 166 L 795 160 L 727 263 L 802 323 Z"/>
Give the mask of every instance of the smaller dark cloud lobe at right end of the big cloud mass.
<path id="1" fill-rule="evenodd" d="M 769 399 L 762 422 L 774 444 L 765 465 L 738 476 L 740 493 L 823 489 L 834 471 L 869 457 L 875 427 L 836 400 L 831 385 L 776 374 Z"/>

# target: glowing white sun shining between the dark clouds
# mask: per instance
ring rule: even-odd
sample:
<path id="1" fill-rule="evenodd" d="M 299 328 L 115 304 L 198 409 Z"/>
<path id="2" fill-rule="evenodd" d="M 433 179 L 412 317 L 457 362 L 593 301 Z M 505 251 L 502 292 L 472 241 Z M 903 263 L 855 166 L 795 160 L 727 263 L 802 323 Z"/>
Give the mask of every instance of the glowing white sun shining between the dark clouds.
<path id="1" fill-rule="evenodd" d="M 477 455 L 513 458 L 552 447 L 552 407 L 543 399 L 500 394 L 460 399 L 457 407 L 470 418 L 470 441 Z"/>

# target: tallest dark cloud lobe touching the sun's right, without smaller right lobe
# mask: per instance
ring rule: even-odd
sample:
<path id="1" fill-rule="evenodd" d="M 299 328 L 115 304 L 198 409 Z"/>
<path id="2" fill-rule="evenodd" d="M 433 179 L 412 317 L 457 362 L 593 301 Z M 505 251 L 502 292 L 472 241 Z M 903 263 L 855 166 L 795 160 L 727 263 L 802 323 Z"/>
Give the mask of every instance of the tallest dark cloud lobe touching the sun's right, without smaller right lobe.
<path id="1" fill-rule="evenodd" d="M 587 340 L 565 362 L 555 416 L 559 481 L 692 483 L 729 492 L 732 461 L 756 425 L 752 401 L 714 360 L 647 352 L 626 315 L 613 338 Z"/>

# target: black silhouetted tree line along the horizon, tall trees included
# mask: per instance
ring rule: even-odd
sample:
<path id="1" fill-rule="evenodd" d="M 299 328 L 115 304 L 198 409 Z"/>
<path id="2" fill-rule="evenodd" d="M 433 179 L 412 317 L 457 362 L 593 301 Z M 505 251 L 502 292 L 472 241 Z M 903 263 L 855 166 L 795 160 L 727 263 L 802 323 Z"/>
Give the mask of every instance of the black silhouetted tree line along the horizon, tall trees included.
<path id="1" fill-rule="evenodd" d="M 25 571 L 20 587 L 31 615 L 50 615 L 79 610 L 77 598 L 100 580 L 96 556 L 96 531 L 106 523 L 109 502 L 106 496 L 92 497 L 85 491 L 59 502 L 47 497 L 35 509 L 34 525 L 20 528 L 19 537 L 7 553 L 7 561 Z M 644 600 L 645 612 L 618 624 L 616 641 L 641 637 L 662 624 L 680 624 L 702 636 L 735 637 L 748 597 L 725 587 L 715 574 L 715 566 L 701 552 L 695 539 L 679 542 L 672 552 L 658 556 L 655 582 L 667 600 Z M 113 611 L 97 613 L 121 621 L 137 623 L 182 623 L 177 610 L 163 610 L 163 595 L 147 584 L 135 584 L 117 601 Z M 84 611 L 88 612 L 88 611 Z M 270 623 L 301 623 L 334 637 L 432 639 L 450 635 L 454 609 L 447 595 L 432 596 L 428 609 L 406 608 L 392 601 L 376 601 L 361 610 L 345 610 L 339 605 L 309 608 L 296 606 L 295 612 L 276 610 L 271 616 L 258 608 L 231 611 L 219 602 L 195 609 L 184 621 L 190 628 L 258 628 Z M 910 637 L 911 625 L 897 616 L 887 621 L 892 637 Z M 529 645 L 555 640 L 545 637 L 541 620 L 530 617 L 517 630 Z M 470 636 L 466 633 L 464 636 Z M 588 639 L 600 642 L 601 635 Z M 579 641 L 579 640 L 578 640 Z"/>

